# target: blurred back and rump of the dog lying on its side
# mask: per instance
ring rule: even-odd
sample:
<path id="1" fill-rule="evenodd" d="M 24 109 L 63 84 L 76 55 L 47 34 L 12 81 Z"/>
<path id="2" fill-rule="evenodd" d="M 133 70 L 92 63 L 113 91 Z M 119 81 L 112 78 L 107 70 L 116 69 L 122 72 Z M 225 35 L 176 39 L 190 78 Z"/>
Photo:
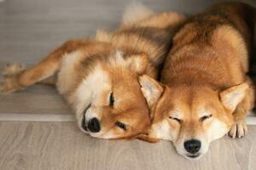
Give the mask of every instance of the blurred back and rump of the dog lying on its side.
<path id="1" fill-rule="evenodd" d="M 156 78 L 172 47 L 172 37 L 186 17 L 175 12 L 154 14 L 141 5 L 131 7 L 117 31 L 97 31 L 96 40 L 110 42 L 127 54 L 147 54 L 150 62 L 146 74 Z"/>

